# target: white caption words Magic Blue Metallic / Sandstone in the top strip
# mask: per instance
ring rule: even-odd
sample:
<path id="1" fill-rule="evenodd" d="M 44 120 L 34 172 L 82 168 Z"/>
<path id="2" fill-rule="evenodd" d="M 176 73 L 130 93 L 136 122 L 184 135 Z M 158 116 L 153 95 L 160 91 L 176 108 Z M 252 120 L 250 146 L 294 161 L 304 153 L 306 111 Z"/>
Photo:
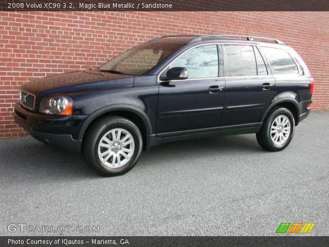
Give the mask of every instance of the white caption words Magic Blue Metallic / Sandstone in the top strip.
<path id="1" fill-rule="evenodd" d="M 132 3 L 123 3 L 123 4 L 118 4 L 118 3 L 112 3 L 112 4 L 105 4 L 105 3 L 98 3 L 98 4 L 94 4 L 94 3 L 88 3 L 88 4 L 84 4 L 84 3 L 80 3 L 79 7 L 81 9 L 106 9 L 106 8 L 113 8 L 113 9 L 171 9 L 173 7 L 172 4 L 157 4 L 157 3 L 153 3 L 153 4 L 147 4 L 147 3 L 138 3 L 138 4 L 132 4 Z"/>

